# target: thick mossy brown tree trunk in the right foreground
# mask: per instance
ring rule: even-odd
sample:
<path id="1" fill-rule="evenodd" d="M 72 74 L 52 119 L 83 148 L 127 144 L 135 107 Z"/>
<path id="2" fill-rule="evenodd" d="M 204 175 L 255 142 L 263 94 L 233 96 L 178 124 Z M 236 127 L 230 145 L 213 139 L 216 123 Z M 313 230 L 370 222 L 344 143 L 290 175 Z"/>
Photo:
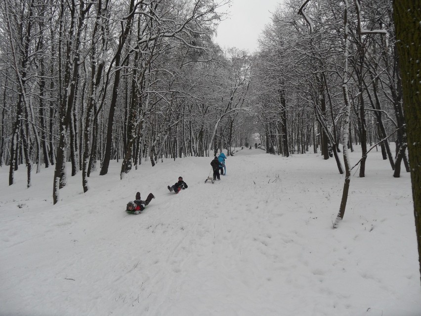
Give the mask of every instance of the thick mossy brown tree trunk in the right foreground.
<path id="1" fill-rule="evenodd" d="M 414 216 L 421 271 L 421 11 L 414 0 L 393 1 L 403 105 L 407 123 L 409 161 L 411 163 Z"/>

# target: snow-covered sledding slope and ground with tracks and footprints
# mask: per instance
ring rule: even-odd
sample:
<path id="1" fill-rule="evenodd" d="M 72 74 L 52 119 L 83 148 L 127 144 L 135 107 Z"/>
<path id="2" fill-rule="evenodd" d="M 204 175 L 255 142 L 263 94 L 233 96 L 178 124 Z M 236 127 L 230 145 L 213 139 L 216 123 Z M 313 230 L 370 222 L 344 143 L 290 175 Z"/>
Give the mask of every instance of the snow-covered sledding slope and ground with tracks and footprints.
<path id="1" fill-rule="evenodd" d="M 86 194 L 69 176 L 54 206 L 52 168 L 29 189 L 24 166 L 12 186 L 0 168 L 0 315 L 421 315 L 410 176 L 380 152 L 353 175 L 337 229 L 334 159 L 244 149 L 205 184 L 210 162 L 144 162 L 123 181 L 113 162 Z M 128 215 L 136 191 L 156 198 Z"/>

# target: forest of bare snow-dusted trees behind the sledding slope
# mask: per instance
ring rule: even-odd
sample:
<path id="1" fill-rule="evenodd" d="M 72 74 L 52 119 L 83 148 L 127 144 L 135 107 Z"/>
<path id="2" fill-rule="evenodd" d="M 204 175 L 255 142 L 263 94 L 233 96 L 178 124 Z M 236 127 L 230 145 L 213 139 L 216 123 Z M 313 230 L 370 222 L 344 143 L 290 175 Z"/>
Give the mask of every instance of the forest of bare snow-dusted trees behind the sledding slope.
<path id="1" fill-rule="evenodd" d="M 287 157 L 319 150 L 345 182 L 353 168 L 370 172 L 370 150 L 391 176 L 409 172 L 392 0 L 288 0 L 253 54 L 214 42 L 228 2 L 1 0 L 9 185 L 18 168 L 28 187 L 31 170 L 54 168 L 55 204 L 68 176 L 82 172 L 86 192 L 111 160 L 123 178 L 254 141 Z"/>

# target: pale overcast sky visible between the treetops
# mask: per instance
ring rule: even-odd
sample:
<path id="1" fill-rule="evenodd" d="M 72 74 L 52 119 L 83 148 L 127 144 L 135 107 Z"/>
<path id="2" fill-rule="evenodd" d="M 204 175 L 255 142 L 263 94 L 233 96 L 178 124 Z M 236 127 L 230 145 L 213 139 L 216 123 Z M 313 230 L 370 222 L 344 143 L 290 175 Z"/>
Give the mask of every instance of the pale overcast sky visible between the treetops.
<path id="1" fill-rule="evenodd" d="M 257 49 L 257 38 L 264 25 L 271 21 L 270 12 L 275 11 L 278 3 L 282 0 L 232 0 L 232 6 L 226 9 L 231 14 L 220 23 L 216 43 L 252 53 Z"/>

